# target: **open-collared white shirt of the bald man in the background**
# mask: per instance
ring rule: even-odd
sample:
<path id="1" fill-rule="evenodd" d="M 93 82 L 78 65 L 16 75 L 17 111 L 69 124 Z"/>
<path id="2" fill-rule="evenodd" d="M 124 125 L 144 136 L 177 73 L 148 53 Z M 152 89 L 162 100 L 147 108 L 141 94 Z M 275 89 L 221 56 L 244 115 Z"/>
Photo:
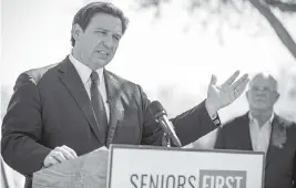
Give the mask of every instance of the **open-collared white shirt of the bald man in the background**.
<path id="1" fill-rule="evenodd" d="M 251 113 L 248 113 L 248 117 L 253 150 L 267 153 L 272 134 L 272 123 L 274 119 L 274 113 L 272 117 L 262 127 L 259 126 L 257 119 L 255 119 Z"/>

